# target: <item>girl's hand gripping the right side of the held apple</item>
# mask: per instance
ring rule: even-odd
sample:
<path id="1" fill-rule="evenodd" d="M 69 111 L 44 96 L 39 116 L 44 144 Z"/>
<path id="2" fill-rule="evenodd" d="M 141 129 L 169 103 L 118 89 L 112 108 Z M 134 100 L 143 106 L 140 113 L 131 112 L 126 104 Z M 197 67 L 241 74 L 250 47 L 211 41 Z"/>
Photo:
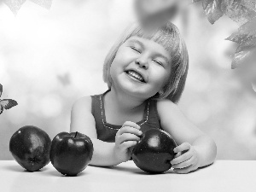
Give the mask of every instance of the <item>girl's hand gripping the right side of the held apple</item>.
<path id="1" fill-rule="evenodd" d="M 174 172 L 189 173 L 200 167 L 201 160 L 195 147 L 189 143 L 183 143 L 173 149 L 176 154 L 175 159 L 171 161 Z"/>

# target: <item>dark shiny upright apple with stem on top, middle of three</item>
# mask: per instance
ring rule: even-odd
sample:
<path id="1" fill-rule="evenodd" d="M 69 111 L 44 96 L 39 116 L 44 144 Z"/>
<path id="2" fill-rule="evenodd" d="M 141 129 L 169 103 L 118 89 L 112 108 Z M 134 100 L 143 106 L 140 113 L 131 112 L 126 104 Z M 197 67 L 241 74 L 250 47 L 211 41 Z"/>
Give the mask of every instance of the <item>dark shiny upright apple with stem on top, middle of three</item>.
<path id="1" fill-rule="evenodd" d="M 76 176 L 88 166 L 92 154 L 93 144 L 90 137 L 78 131 L 61 132 L 52 140 L 49 159 L 61 174 Z"/>

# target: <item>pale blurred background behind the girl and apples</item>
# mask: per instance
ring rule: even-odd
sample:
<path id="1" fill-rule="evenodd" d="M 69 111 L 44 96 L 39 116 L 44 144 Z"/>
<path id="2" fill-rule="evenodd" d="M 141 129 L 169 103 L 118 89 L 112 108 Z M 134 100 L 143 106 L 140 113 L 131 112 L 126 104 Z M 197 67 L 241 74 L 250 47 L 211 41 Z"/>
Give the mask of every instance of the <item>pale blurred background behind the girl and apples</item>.
<path id="1" fill-rule="evenodd" d="M 12 159 L 9 139 L 23 125 L 51 138 L 69 131 L 73 102 L 107 90 L 102 63 L 133 20 L 132 0 L 54 0 L 49 10 L 26 1 L 16 16 L 0 1 L 1 98 L 19 103 L 0 115 L 0 160 Z M 224 41 L 238 26 L 227 17 L 212 26 L 201 3 L 173 22 L 190 57 L 179 108 L 215 140 L 218 160 L 256 160 L 256 94 L 231 70 L 236 44 Z"/>

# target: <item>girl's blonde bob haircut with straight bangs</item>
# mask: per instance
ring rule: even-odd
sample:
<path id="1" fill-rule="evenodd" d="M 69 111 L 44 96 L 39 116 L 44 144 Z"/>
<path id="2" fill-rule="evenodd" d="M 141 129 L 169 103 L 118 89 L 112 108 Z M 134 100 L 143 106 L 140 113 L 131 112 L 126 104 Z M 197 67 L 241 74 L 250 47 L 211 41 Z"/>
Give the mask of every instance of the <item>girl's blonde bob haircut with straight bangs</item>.
<path id="1" fill-rule="evenodd" d="M 162 89 L 151 97 L 154 100 L 169 99 L 177 103 L 183 93 L 188 69 L 189 69 L 189 54 L 186 44 L 181 37 L 177 26 L 171 22 L 167 22 L 164 26 L 160 26 L 155 30 L 145 31 L 138 23 L 133 23 L 129 26 L 121 37 L 113 44 L 112 49 L 108 52 L 103 66 L 103 80 L 111 88 L 112 79 L 110 75 L 110 67 L 115 58 L 119 47 L 125 43 L 128 38 L 133 36 L 139 38 L 147 38 L 162 45 L 171 55 L 171 73 L 169 79 Z"/>

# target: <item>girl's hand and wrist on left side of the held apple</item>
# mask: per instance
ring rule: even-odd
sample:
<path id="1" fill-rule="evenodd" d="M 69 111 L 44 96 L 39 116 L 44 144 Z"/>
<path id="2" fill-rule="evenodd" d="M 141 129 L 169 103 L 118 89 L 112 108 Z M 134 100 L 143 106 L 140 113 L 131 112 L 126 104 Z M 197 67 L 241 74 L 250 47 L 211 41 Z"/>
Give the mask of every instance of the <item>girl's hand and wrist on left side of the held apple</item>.
<path id="1" fill-rule="evenodd" d="M 140 140 L 143 134 L 141 127 L 131 121 L 126 121 L 121 129 L 116 133 L 114 155 L 119 163 L 131 159 L 133 147 Z"/>

